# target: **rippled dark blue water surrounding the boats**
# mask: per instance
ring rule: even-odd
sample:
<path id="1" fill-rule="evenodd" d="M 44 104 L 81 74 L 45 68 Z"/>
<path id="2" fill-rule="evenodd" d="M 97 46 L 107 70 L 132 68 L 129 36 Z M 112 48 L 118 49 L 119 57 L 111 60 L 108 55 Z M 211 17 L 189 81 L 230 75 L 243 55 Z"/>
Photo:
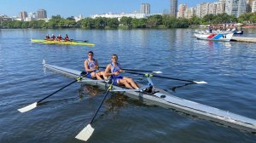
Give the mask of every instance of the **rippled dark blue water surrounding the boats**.
<path id="1" fill-rule="evenodd" d="M 256 119 L 256 43 L 208 42 L 192 30 L 0 30 L 0 142 L 82 142 L 75 135 L 90 121 L 105 91 L 74 83 L 26 113 L 17 111 L 73 79 L 44 70 L 42 60 L 83 70 L 89 50 L 100 66 L 119 55 L 124 68 L 162 71 L 165 76 L 208 84 L 154 78 L 161 89 L 187 100 Z M 256 37 L 256 29 L 244 36 Z M 32 44 L 47 33 L 96 43 L 95 47 Z M 141 77 L 130 75 L 137 80 Z M 145 82 L 144 80 L 142 82 Z M 256 135 L 109 94 L 88 142 L 255 142 Z"/>

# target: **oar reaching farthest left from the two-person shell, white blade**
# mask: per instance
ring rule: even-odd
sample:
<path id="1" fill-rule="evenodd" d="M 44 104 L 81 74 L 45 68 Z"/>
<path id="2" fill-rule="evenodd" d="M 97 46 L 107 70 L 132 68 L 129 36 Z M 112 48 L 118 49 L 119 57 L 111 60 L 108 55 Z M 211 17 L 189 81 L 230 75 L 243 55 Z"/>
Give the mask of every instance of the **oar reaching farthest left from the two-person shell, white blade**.
<path id="1" fill-rule="evenodd" d="M 82 72 L 82 73 L 83 73 L 83 72 Z M 81 73 L 81 74 L 82 74 L 82 73 Z M 88 74 L 88 73 L 87 73 L 87 74 Z M 62 89 L 67 88 L 67 87 L 70 86 L 71 84 L 76 83 L 77 81 L 79 81 L 79 80 L 81 80 L 83 77 L 85 77 L 87 74 L 83 75 L 82 77 L 78 77 L 78 78 L 77 78 L 76 80 L 74 80 L 73 82 L 68 83 L 67 85 L 65 85 L 65 86 L 62 87 L 61 89 L 58 89 L 58 90 L 56 90 L 54 93 L 49 94 L 48 96 L 44 97 L 44 99 L 38 100 L 37 102 L 34 102 L 34 103 L 32 103 L 31 105 L 29 105 L 29 106 L 25 106 L 25 107 L 23 107 L 23 108 L 18 109 L 18 111 L 19 111 L 19 112 L 28 112 L 28 111 L 31 111 L 32 109 L 34 109 L 34 108 L 36 108 L 36 107 L 38 106 L 38 103 L 40 103 L 40 102 L 42 102 L 43 100 L 49 98 L 50 96 L 56 94 L 57 92 L 61 91 Z"/>

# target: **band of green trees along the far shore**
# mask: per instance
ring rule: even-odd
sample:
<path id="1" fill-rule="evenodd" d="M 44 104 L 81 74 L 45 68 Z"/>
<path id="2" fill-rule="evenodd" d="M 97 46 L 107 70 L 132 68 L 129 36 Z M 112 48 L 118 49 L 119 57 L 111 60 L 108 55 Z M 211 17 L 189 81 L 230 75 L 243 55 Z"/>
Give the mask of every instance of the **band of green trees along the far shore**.
<path id="1" fill-rule="evenodd" d="M 256 23 L 256 13 L 241 14 L 238 18 L 229 14 L 207 14 L 203 18 L 192 16 L 190 19 L 175 18 L 169 14 L 155 14 L 147 18 L 136 19 L 131 17 L 84 18 L 76 22 L 73 17 L 61 18 L 61 15 L 53 15 L 49 21 L 3 21 L 0 28 L 84 28 L 84 29 L 118 29 L 118 28 L 188 28 L 196 25 L 215 25 L 224 23 Z"/>

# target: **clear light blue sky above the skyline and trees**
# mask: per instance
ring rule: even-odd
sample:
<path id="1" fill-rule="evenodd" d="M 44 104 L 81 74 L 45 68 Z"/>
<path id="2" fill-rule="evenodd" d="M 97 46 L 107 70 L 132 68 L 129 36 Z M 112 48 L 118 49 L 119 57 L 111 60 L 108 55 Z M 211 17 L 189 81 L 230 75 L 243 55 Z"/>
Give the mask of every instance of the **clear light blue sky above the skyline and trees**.
<path id="1" fill-rule="evenodd" d="M 217 2 L 218 0 L 178 0 L 194 7 L 198 3 Z M 131 13 L 140 11 L 141 3 L 150 3 L 151 14 L 170 10 L 170 0 L 0 0 L 0 14 L 18 16 L 21 10 L 27 13 L 45 9 L 48 17 L 61 14 L 62 17 L 90 16 L 91 14 Z"/>

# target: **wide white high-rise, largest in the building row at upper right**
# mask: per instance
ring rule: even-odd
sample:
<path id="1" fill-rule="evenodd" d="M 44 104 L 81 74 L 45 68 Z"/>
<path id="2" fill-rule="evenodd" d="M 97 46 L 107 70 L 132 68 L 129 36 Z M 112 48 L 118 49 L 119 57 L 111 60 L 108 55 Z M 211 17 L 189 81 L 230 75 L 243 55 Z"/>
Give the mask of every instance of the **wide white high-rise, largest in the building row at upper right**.
<path id="1" fill-rule="evenodd" d="M 247 2 L 246 0 L 226 0 L 225 13 L 239 17 L 241 14 L 246 13 Z"/>

